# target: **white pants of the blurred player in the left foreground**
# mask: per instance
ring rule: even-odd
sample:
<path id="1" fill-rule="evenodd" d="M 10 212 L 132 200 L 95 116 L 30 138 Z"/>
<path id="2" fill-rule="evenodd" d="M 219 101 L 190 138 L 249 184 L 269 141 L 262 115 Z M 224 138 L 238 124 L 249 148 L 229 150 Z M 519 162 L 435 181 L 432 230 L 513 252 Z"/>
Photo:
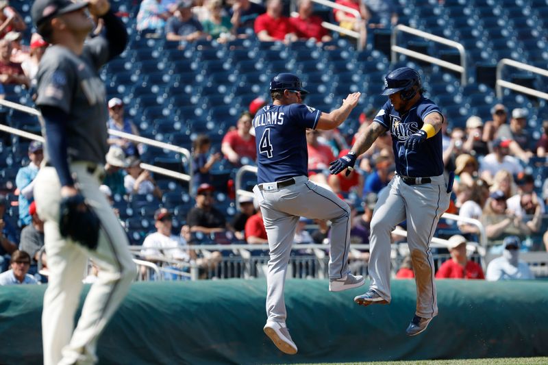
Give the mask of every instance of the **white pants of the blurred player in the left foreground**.
<path id="1" fill-rule="evenodd" d="M 55 168 L 42 167 L 36 177 L 34 199 L 44 223 L 49 283 L 42 311 L 44 364 L 92 364 L 97 362 L 97 338 L 122 302 L 136 275 L 127 236 L 105 194 L 99 190 L 103 168 L 88 171 L 86 162 L 71 164 L 80 192 L 101 220 L 99 245 L 90 251 L 65 240 L 59 233 L 61 186 Z M 82 290 L 88 257 L 99 266 L 82 315 L 74 329 L 74 315 Z"/>

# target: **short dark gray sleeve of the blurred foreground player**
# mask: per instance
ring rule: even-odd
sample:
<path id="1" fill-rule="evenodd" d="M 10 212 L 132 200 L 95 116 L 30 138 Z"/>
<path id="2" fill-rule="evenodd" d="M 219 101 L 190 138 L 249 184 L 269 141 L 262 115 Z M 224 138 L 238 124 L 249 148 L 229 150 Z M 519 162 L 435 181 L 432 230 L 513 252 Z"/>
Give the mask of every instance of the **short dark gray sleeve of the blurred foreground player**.
<path id="1" fill-rule="evenodd" d="M 38 70 L 38 98 L 36 105 L 53 106 L 66 114 L 71 112 L 76 75 L 74 65 L 58 57 L 58 49 L 51 49 L 40 62 Z"/>

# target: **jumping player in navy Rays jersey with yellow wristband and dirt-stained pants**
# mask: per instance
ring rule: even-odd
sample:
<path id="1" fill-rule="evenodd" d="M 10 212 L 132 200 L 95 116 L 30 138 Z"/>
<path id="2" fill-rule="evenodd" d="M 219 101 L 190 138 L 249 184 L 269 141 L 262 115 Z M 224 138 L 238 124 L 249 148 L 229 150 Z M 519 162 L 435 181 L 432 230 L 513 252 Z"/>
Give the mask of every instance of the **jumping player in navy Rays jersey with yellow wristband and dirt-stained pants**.
<path id="1" fill-rule="evenodd" d="M 423 97 L 421 78 L 412 68 L 388 73 L 384 81 L 388 101 L 351 151 L 331 163 L 338 174 L 351 171 L 364 153 L 387 130 L 392 135 L 396 175 L 379 194 L 371 220 L 369 274 L 371 288 L 354 298 L 360 305 L 390 303 L 390 232 L 407 220 L 408 244 L 416 277 L 416 314 L 406 333 L 424 331 L 438 314 L 434 262 L 429 249 L 440 216 L 449 207 L 452 181 L 443 176 L 440 109 Z"/>

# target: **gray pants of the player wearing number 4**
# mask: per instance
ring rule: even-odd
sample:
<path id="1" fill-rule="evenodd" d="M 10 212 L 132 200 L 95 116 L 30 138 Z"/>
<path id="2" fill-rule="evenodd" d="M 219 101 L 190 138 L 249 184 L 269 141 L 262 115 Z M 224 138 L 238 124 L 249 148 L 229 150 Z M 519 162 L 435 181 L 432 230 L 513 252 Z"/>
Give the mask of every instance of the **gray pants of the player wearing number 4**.
<path id="1" fill-rule="evenodd" d="M 350 207 L 331 190 L 308 180 L 294 178 L 296 184 L 276 188 L 275 183 L 253 188 L 262 212 L 269 238 L 270 260 L 266 275 L 266 314 L 268 320 L 286 321 L 284 286 L 286 271 L 299 216 L 331 221 L 331 249 L 329 250 L 329 278 L 340 279 L 348 273 L 350 244 Z"/>

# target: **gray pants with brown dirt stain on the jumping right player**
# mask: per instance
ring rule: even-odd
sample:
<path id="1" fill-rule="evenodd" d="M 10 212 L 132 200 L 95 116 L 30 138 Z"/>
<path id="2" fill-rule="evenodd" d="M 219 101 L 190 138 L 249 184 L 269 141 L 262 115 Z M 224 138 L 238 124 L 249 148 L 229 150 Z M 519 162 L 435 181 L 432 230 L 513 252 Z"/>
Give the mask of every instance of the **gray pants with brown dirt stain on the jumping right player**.
<path id="1" fill-rule="evenodd" d="M 371 288 L 390 302 L 390 232 L 407 219 L 407 242 L 416 281 L 416 315 L 438 314 L 434 260 L 429 248 L 440 216 L 449 207 L 443 175 L 431 184 L 408 185 L 396 175 L 379 194 L 371 219 L 369 275 Z"/>

